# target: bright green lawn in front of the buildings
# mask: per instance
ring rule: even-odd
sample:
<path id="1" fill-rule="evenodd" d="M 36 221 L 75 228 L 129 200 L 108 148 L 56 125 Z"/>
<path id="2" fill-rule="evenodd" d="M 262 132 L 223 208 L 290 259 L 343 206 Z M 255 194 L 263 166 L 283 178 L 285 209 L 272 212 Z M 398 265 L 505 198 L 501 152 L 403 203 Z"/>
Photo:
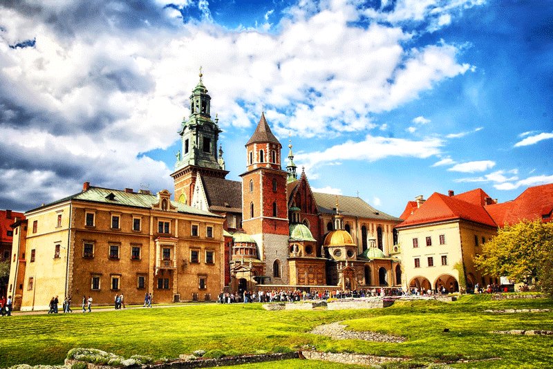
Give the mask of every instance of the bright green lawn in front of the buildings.
<path id="1" fill-rule="evenodd" d="M 272 311 L 260 304 L 185 305 L 97 314 L 24 315 L 3 318 L 0 367 L 17 363 L 60 364 L 68 350 L 99 348 L 131 357 L 176 358 L 194 350 L 225 353 L 281 352 L 304 345 L 329 352 L 407 357 L 414 363 L 480 360 L 455 367 L 547 368 L 553 364 L 553 337 L 492 334 L 492 330 L 553 330 L 553 312 L 491 314 L 484 310 L 553 308 L 552 299 L 491 301 L 489 295 L 462 296 L 454 303 L 396 302 L 386 309 Z M 332 340 L 308 332 L 344 321 L 349 329 L 398 334 L 404 343 Z M 449 332 L 443 332 L 449 328 Z M 250 364 L 238 368 L 261 368 Z M 265 368 L 267 363 L 264 364 Z M 285 361 L 271 368 L 355 368 L 336 363 Z M 391 366 L 393 367 L 393 366 Z M 405 367 L 405 366 L 403 366 Z M 236 367 L 234 367 L 236 368 Z"/>

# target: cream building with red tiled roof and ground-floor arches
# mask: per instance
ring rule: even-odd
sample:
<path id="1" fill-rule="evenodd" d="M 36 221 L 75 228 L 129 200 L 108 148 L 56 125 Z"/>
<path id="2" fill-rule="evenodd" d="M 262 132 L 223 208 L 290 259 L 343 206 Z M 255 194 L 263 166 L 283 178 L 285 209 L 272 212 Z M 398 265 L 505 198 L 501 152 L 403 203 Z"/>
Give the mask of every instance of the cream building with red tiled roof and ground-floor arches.
<path id="1" fill-rule="evenodd" d="M 515 200 L 498 203 L 482 189 L 455 195 L 433 193 L 406 205 L 397 225 L 404 287 L 449 292 L 474 290 L 498 283 L 499 276 L 481 274 L 473 258 L 498 227 L 521 220 L 552 220 L 553 184 L 529 187 Z"/>

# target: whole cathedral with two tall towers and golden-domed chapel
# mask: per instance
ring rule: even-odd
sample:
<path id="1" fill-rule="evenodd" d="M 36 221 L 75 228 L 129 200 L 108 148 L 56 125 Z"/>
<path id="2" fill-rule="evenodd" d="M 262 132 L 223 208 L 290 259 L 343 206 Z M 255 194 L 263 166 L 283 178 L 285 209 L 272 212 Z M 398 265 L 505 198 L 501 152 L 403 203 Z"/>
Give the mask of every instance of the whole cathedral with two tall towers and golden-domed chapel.
<path id="1" fill-rule="evenodd" d="M 171 176 L 175 200 L 225 219 L 225 287 L 238 292 L 400 287 L 394 229 L 400 218 L 359 197 L 312 191 L 306 173 L 298 176 L 291 143 L 283 160 L 282 144 L 264 113 L 245 142 L 241 181 L 226 179 L 221 129 L 218 118 L 212 120 L 202 77 L 189 98 Z"/>

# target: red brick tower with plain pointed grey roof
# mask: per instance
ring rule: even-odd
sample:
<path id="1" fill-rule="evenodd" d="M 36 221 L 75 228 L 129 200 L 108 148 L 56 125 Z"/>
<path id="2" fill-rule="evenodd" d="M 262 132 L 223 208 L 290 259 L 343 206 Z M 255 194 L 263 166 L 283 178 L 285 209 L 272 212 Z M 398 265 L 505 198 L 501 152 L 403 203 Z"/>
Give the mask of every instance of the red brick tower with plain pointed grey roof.
<path id="1" fill-rule="evenodd" d="M 256 240 L 265 275 L 272 284 L 286 284 L 288 276 L 288 173 L 281 169 L 282 145 L 271 132 L 265 114 L 246 146 L 242 173 L 242 227 Z M 268 283 L 268 281 L 265 281 Z"/>

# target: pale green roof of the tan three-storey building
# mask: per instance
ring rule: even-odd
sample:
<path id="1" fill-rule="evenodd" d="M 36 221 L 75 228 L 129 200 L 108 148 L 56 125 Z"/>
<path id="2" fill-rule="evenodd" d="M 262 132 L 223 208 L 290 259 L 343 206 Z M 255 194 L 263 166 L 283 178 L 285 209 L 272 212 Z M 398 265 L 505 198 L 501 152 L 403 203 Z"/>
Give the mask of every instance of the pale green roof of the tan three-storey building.
<path id="1" fill-rule="evenodd" d="M 113 200 L 110 200 L 110 198 L 113 198 Z M 57 200 L 55 202 L 50 202 L 50 204 L 43 205 L 41 207 L 37 207 L 36 209 L 32 209 L 32 210 L 49 207 L 51 205 L 55 205 L 60 202 L 64 202 L 68 200 L 101 202 L 101 203 L 110 204 L 110 205 L 151 209 L 152 205 L 158 202 L 158 196 L 151 195 L 149 193 L 126 192 L 119 189 L 105 189 L 102 187 L 91 186 L 86 191 L 75 193 L 75 195 L 62 198 L 61 200 Z M 176 207 L 179 213 L 196 214 L 196 215 L 202 215 L 202 216 L 218 216 L 217 214 L 209 213 L 209 211 L 196 209 L 195 207 L 182 204 L 178 201 L 171 201 L 171 205 Z M 29 211 L 32 211 L 32 210 L 29 210 Z"/>

